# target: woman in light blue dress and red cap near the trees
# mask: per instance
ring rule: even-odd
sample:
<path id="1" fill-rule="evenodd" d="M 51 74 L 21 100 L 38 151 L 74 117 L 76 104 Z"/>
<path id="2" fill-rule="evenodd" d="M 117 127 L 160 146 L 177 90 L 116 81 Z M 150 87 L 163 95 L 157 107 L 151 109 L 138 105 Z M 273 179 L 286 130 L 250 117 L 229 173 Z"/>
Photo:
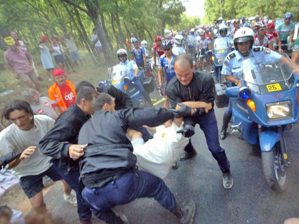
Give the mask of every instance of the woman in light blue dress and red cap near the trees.
<path id="1" fill-rule="evenodd" d="M 47 46 L 49 38 L 47 36 L 42 36 L 41 39 L 42 42 L 39 43 L 40 60 L 42 62 L 42 67 L 47 70 L 49 80 L 51 80 L 51 71 L 54 69 L 54 64 L 50 54 L 50 49 Z"/>

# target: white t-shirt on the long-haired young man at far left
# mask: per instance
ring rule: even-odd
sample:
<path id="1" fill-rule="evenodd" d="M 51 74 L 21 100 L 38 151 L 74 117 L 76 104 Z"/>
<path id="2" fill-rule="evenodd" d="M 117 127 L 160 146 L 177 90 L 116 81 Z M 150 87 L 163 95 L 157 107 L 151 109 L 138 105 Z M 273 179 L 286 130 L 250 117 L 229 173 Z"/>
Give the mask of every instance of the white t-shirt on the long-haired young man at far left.
<path id="1" fill-rule="evenodd" d="M 22 131 L 15 124 L 9 125 L 0 133 L 0 155 L 4 156 L 13 151 L 24 150 L 29 146 L 37 146 L 34 153 L 26 159 L 23 159 L 19 165 L 12 169 L 17 177 L 37 175 L 48 170 L 52 164 L 49 161 L 51 157 L 40 153 L 38 143 L 42 137 L 54 127 L 54 120 L 46 115 L 34 115 L 34 124 L 36 127 L 29 131 Z"/>

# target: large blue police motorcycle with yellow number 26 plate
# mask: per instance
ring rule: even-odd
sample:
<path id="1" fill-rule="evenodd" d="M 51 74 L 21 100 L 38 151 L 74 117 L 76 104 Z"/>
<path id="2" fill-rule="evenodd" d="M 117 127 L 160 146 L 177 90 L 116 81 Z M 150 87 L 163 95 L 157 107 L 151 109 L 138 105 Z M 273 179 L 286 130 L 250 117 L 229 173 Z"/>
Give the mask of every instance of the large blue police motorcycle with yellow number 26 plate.
<path id="1" fill-rule="evenodd" d="M 263 175 L 276 191 L 285 190 L 287 183 L 284 130 L 298 121 L 299 79 L 293 71 L 290 60 L 287 64 L 259 64 L 247 59 L 243 61 L 242 87 L 226 89 L 233 114 L 231 135 L 261 150 Z"/>

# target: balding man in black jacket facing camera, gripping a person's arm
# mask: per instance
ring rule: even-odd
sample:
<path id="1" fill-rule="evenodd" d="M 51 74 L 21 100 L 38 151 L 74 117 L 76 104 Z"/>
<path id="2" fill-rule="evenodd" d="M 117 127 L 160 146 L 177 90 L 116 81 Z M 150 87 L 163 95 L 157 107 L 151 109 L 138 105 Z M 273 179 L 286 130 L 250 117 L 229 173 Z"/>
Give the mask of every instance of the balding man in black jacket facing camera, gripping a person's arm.
<path id="1" fill-rule="evenodd" d="M 195 116 L 184 119 L 183 134 L 190 137 L 194 134 L 195 124 L 199 124 L 205 134 L 208 148 L 223 173 L 223 187 L 229 189 L 233 186 L 233 177 L 225 151 L 220 147 L 218 139 L 217 121 L 213 110 L 215 99 L 214 80 L 206 73 L 193 72 L 192 67 L 191 56 L 187 54 L 176 56 L 174 60 L 176 77 L 171 79 L 167 85 L 167 96 L 172 107 L 175 107 L 178 102 L 184 102 L 196 111 Z M 212 107 L 210 108 L 210 106 Z M 190 159 L 196 154 L 197 152 L 190 141 L 180 160 Z"/>

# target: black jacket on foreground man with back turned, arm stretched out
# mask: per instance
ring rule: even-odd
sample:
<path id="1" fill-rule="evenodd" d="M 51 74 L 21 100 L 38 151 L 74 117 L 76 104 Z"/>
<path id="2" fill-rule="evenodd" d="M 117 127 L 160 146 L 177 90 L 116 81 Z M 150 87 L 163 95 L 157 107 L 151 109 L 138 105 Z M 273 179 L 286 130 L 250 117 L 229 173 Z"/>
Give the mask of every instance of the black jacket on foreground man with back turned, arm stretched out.
<path id="1" fill-rule="evenodd" d="M 79 144 L 88 143 L 80 158 L 80 179 L 89 188 L 102 179 L 120 175 L 136 163 L 127 129 L 160 125 L 173 117 L 170 110 L 129 108 L 115 112 L 98 111 L 80 130 Z"/>

